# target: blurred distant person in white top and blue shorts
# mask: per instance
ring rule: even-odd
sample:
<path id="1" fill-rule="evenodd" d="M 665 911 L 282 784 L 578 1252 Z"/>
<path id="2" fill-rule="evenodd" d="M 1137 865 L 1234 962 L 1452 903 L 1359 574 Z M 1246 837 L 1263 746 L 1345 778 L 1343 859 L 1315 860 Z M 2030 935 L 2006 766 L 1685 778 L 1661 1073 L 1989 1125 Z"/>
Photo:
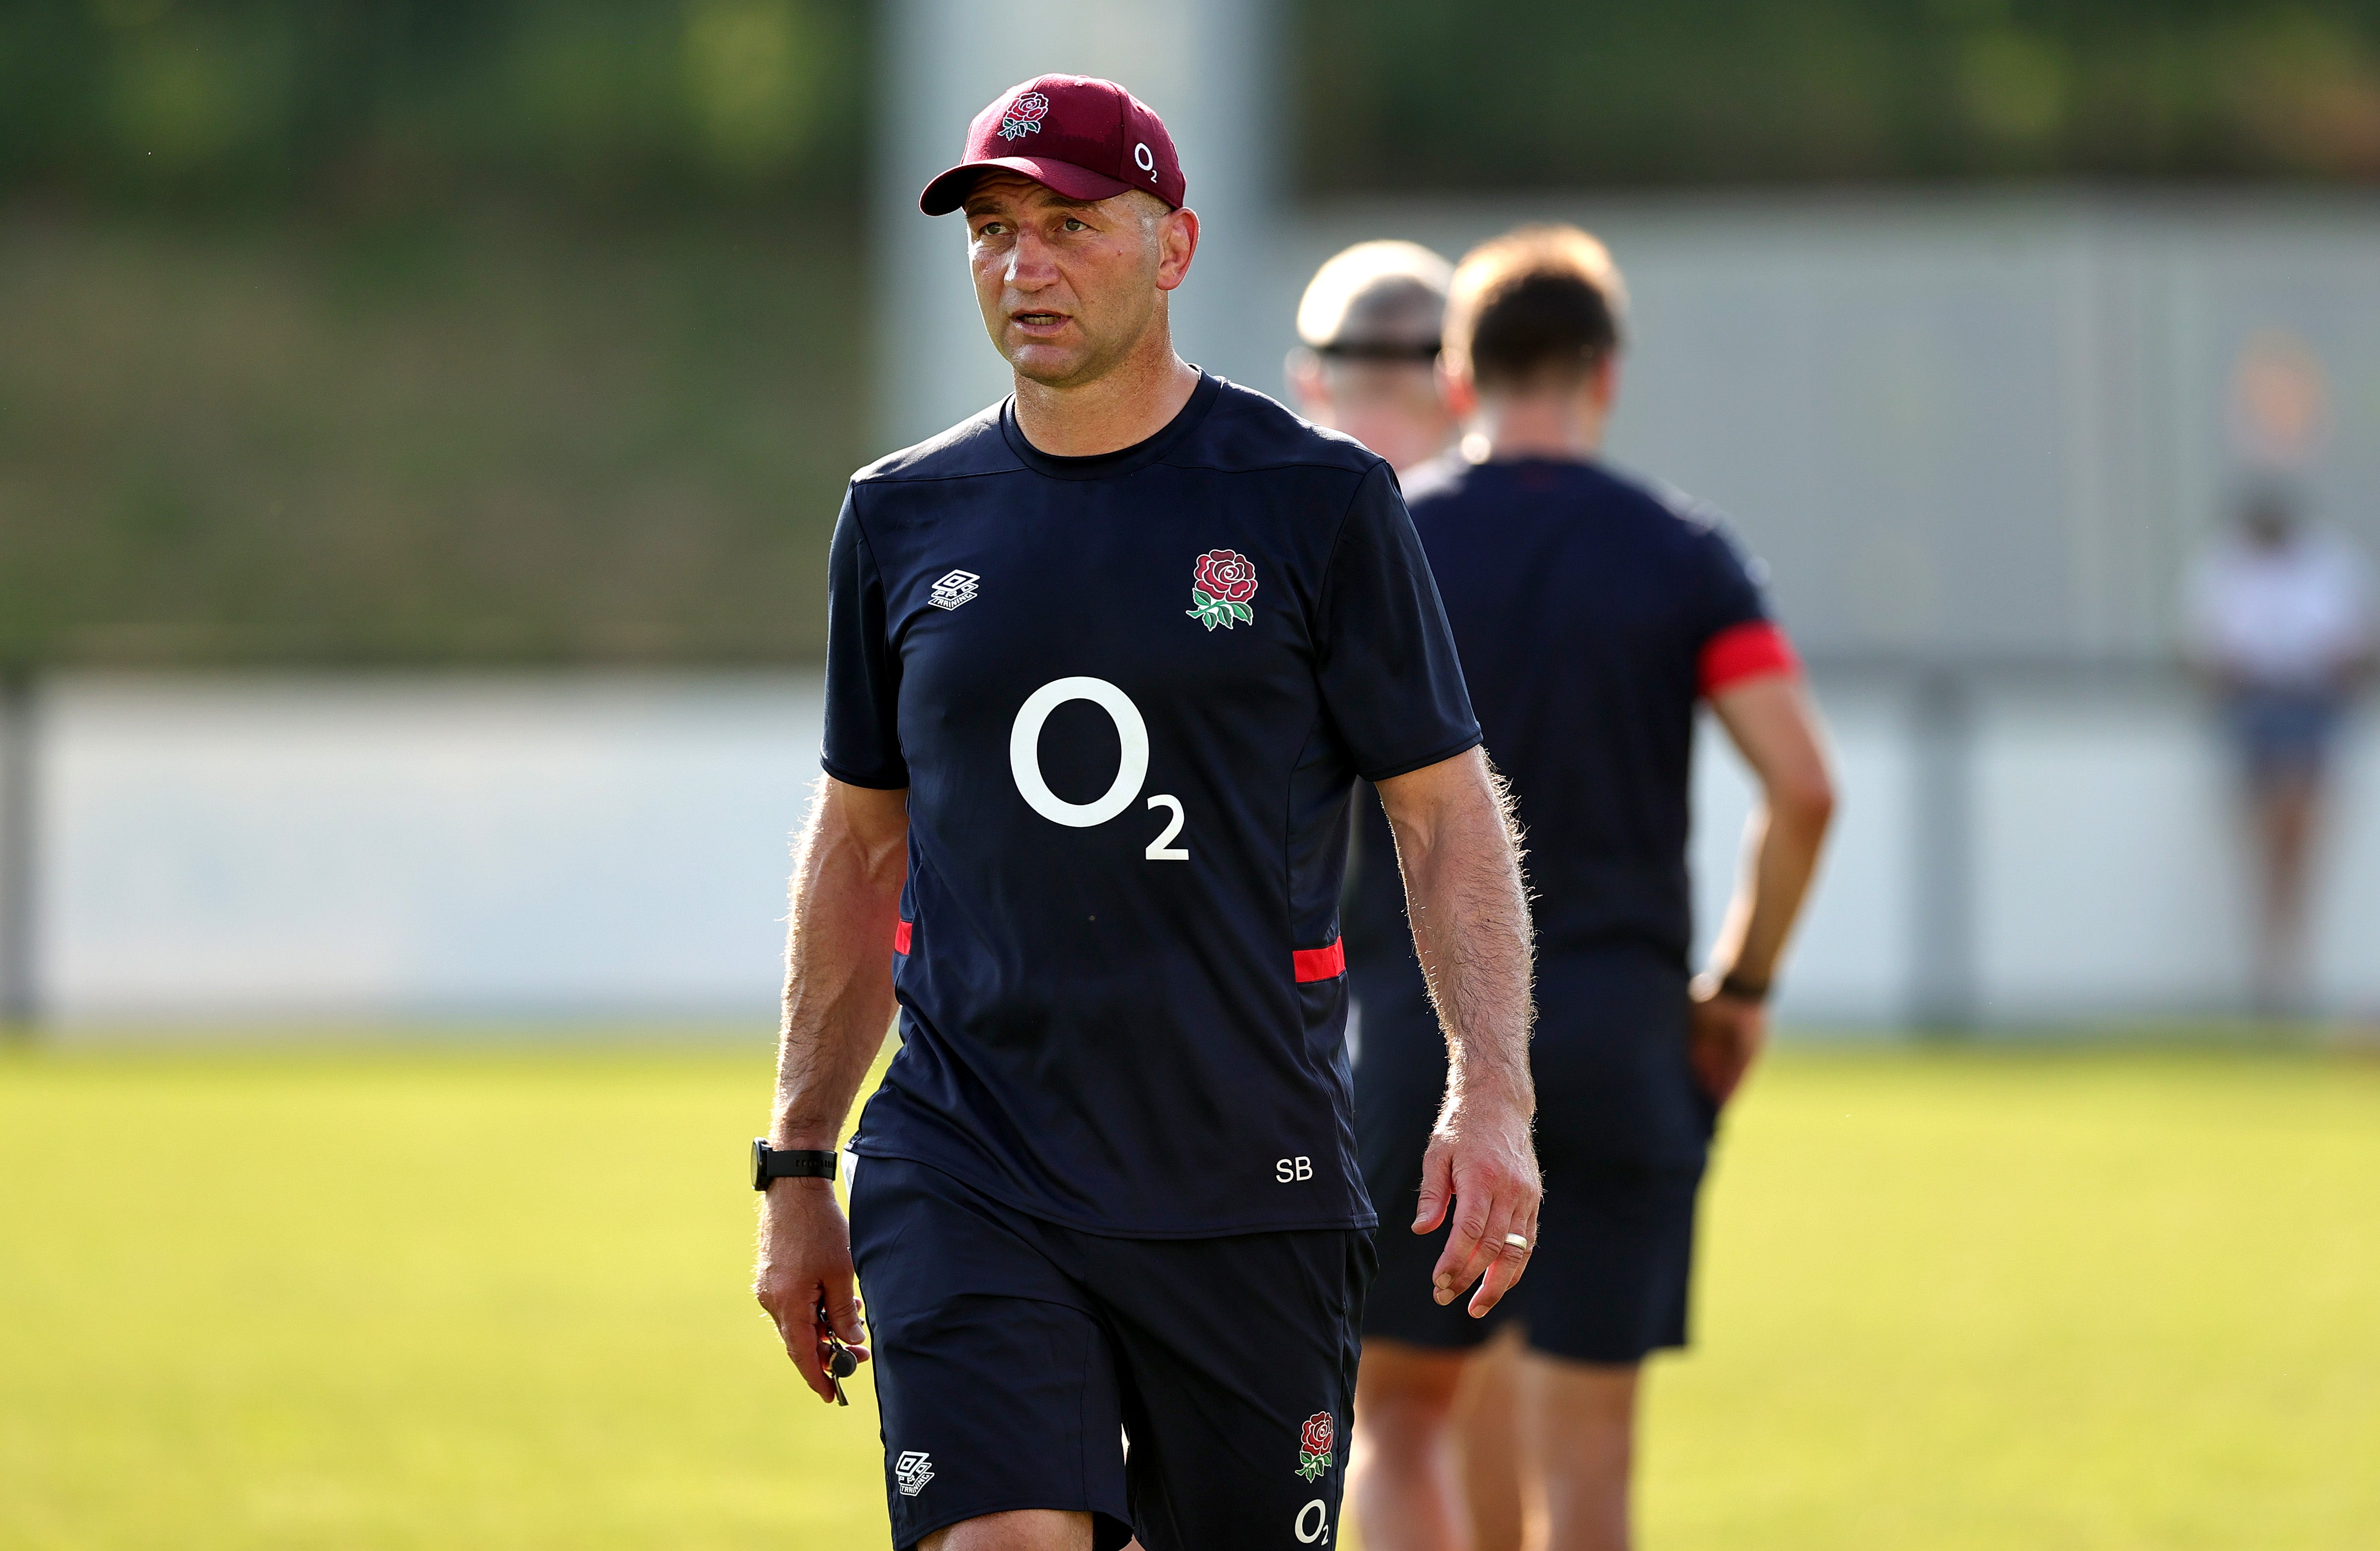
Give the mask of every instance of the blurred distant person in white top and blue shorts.
<path id="1" fill-rule="evenodd" d="M 2278 485 L 2190 578 L 2190 630 L 2247 783 L 2256 844 L 2254 1006 L 2306 1004 L 2306 883 L 2347 697 L 2373 661 L 2370 576 L 2337 533 L 2301 521 Z"/>

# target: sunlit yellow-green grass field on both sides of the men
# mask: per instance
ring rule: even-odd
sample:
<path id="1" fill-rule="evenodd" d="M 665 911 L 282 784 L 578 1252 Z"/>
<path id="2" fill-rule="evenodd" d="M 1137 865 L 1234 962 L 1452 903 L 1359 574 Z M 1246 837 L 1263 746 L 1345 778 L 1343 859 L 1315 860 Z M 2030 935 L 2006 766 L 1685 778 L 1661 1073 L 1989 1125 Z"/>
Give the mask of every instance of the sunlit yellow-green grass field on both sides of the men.
<path id="1" fill-rule="evenodd" d="M 883 1544 L 745 1294 L 762 1044 L 0 1056 L 0 1546 Z M 2349 1549 L 2380 1066 L 1818 1049 L 1733 1118 L 1645 1541 Z"/>

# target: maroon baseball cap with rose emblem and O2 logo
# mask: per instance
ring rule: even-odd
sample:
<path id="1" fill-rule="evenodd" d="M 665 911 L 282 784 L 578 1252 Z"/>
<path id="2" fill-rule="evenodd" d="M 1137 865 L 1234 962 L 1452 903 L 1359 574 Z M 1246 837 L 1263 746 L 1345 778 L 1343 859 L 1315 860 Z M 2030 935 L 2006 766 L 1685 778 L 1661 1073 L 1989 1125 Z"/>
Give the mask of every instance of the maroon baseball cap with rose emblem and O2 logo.
<path id="1" fill-rule="evenodd" d="M 1107 200 L 1126 188 L 1183 207 L 1183 164 L 1150 105 L 1095 76 L 1033 76 L 992 98 L 966 126 L 966 159 L 926 186 L 916 207 L 947 216 L 985 171 L 1002 167 L 1069 200 Z"/>

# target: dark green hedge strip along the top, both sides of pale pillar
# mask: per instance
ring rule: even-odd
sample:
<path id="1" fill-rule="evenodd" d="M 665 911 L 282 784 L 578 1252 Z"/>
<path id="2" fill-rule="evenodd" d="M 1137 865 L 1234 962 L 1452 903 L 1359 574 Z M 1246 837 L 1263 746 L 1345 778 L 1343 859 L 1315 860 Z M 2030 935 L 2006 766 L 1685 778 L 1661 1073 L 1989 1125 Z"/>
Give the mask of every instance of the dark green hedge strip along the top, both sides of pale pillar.
<path id="1" fill-rule="evenodd" d="M 2380 178 L 2380 0 L 1280 0 L 1316 190 Z M 859 193 L 862 0 L 12 0 L 0 193 Z"/>

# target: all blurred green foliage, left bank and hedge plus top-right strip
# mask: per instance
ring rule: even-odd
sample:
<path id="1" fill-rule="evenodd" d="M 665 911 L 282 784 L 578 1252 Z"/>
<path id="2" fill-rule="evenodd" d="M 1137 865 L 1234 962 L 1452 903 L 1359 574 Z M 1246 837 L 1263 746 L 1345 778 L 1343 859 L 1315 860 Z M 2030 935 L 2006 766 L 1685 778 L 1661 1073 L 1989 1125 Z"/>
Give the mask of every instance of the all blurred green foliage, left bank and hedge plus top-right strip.
<path id="1" fill-rule="evenodd" d="M 814 654 L 869 21 L 0 0 L 0 661 Z M 2380 0 L 1285 24 L 1311 190 L 2380 178 Z"/>

